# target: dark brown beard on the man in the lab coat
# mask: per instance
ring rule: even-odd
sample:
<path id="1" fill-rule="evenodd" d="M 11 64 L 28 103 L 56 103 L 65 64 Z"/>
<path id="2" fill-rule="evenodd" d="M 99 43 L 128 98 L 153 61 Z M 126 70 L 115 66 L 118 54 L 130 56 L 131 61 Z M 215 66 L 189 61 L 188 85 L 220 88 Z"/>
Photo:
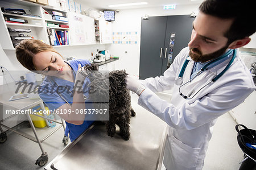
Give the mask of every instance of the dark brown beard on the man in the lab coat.
<path id="1" fill-rule="evenodd" d="M 189 56 L 195 62 L 205 63 L 207 61 L 210 61 L 210 60 L 220 57 L 222 54 L 224 54 L 226 49 L 228 49 L 228 46 L 229 45 L 225 45 L 225 47 L 219 49 L 218 51 L 209 53 L 207 55 L 202 55 L 201 51 L 199 51 L 199 49 L 197 49 L 197 48 L 189 48 Z M 193 52 L 191 52 L 191 50 L 193 50 Z"/>

